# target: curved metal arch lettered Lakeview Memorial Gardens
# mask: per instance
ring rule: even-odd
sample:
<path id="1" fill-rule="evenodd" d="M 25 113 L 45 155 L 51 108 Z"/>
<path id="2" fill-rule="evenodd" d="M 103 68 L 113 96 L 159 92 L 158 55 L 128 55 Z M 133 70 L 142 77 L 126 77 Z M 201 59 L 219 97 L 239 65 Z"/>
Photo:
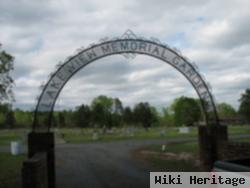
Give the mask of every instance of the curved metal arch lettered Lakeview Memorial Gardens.
<path id="1" fill-rule="evenodd" d="M 125 36 L 125 37 L 124 37 Z M 161 44 L 157 40 L 137 38 L 126 34 L 122 38 L 102 40 L 99 44 L 80 50 L 76 55 L 68 58 L 55 73 L 51 74 L 49 81 L 43 87 L 35 109 L 33 131 L 46 126 L 50 129 L 55 102 L 67 81 L 80 69 L 100 58 L 122 54 L 133 57 L 135 54 L 144 54 L 168 63 L 192 84 L 202 104 L 207 124 L 219 124 L 213 96 L 205 80 L 198 72 L 196 66 L 184 58 L 177 50 Z M 131 37 L 132 36 L 132 37 Z"/>

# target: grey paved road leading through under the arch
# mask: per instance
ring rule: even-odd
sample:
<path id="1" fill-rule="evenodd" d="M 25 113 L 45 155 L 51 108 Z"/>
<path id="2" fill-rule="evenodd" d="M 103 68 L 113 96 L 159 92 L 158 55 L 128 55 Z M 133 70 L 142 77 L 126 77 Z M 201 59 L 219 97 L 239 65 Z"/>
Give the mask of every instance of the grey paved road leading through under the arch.
<path id="1" fill-rule="evenodd" d="M 149 169 L 145 167 L 143 161 L 135 159 L 130 151 L 156 143 L 166 143 L 166 141 L 57 145 L 57 187 L 147 188 Z"/>

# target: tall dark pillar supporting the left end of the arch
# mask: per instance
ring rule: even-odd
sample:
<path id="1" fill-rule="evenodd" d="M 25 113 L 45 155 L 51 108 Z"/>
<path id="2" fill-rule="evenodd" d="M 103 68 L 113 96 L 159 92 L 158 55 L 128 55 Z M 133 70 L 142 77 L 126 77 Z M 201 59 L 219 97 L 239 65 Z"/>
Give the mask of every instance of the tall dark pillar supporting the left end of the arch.
<path id="1" fill-rule="evenodd" d="M 48 187 L 55 188 L 55 140 L 54 133 L 35 133 L 28 135 L 28 157 L 33 157 L 37 152 L 46 152 L 48 169 Z"/>

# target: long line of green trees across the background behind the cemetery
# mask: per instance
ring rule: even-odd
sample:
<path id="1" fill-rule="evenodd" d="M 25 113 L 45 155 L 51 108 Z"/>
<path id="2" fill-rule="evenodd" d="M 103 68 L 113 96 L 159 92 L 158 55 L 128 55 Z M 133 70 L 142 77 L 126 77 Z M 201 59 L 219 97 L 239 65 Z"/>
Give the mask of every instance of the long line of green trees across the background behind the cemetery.
<path id="1" fill-rule="evenodd" d="M 241 95 L 240 107 L 236 111 L 230 104 L 220 103 L 217 110 L 220 119 L 240 118 L 250 123 L 250 89 Z M 33 112 L 12 110 L 11 105 L 0 105 L 0 127 L 31 127 Z M 176 98 L 169 107 L 157 109 L 148 102 L 139 102 L 133 107 L 124 106 L 119 98 L 100 95 L 90 105 L 82 104 L 71 110 L 55 111 L 52 118 L 54 127 L 60 128 L 112 128 L 141 126 L 195 126 L 203 120 L 199 99 Z"/>

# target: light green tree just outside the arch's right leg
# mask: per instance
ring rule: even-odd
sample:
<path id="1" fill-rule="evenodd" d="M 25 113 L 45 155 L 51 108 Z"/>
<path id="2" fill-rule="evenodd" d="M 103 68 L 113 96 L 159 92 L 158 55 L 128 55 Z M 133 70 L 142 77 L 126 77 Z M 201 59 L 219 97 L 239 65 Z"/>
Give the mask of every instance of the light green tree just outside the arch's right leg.
<path id="1" fill-rule="evenodd" d="M 217 110 L 220 118 L 229 119 L 237 116 L 236 110 L 227 103 L 220 103 L 217 105 Z"/>

